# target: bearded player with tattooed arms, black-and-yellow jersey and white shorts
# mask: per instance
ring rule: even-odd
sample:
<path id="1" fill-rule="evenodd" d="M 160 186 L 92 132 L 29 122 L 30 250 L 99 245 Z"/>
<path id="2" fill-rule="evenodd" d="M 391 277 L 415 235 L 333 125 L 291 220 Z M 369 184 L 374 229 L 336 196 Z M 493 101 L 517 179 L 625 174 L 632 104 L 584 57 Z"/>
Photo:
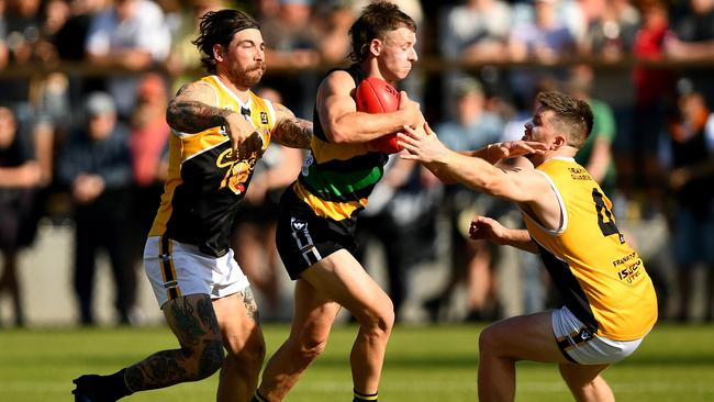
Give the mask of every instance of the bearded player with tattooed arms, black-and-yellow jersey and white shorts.
<path id="1" fill-rule="evenodd" d="M 186 85 L 168 107 L 168 179 L 144 250 L 147 277 L 180 348 L 111 376 L 79 377 L 76 401 L 116 401 L 219 369 L 217 401 L 248 401 L 257 387 L 265 342 L 228 234 L 268 143 L 306 148 L 312 123 L 252 92 L 265 71 L 265 44 L 253 18 L 209 12 L 193 43 L 210 76 Z"/>

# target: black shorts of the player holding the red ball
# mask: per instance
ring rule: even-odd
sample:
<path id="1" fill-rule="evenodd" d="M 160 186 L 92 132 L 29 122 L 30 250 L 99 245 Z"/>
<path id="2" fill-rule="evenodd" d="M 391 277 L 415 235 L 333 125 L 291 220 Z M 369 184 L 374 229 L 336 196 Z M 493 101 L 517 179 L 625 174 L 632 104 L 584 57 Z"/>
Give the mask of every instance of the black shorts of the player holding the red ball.
<path id="1" fill-rule="evenodd" d="M 355 254 L 355 221 L 317 216 L 289 188 L 280 200 L 276 245 L 290 279 L 297 280 L 302 271 L 339 249 Z"/>

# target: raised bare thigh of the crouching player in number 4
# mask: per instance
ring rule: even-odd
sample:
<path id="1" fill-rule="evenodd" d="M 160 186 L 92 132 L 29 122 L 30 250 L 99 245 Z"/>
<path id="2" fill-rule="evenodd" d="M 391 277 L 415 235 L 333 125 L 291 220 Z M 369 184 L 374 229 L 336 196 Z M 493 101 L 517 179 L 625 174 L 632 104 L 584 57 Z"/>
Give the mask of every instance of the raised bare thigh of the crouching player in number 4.
<path id="1" fill-rule="evenodd" d="M 567 362 L 553 335 L 551 313 L 540 312 L 499 321 L 481 332 L 482 354 L 514 360 Z"/>

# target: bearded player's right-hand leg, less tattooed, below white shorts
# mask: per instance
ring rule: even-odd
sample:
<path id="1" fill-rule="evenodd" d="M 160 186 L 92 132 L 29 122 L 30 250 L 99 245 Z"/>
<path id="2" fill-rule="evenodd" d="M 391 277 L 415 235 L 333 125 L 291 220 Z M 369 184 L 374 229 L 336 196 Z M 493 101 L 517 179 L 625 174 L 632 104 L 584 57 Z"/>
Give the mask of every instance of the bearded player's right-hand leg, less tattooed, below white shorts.
<path id="1" fill-rule="evenodd" d="M 217 401 L 248 401 L 258 386 L 265 340 L 250 288 L 213 301 L 228 354 L 221 368 Z"/>

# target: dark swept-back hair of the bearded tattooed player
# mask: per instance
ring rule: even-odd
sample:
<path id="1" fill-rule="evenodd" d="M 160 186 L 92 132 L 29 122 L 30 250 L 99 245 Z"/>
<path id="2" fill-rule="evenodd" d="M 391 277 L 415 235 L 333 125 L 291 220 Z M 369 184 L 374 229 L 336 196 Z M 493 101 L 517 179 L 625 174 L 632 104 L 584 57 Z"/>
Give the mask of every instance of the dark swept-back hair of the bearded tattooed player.
<path id="1" fill-rule="evenodd" d="M 241 10 L 209 11 L 201 16 L 199 36 L 191 43 L 201 52 L 201 64 L 209 74 L 215 74 L 213 46 L 219 44 L 227 47 L 233 41 L 233 35 L 249 29 L 259 30 L 260 25 Z"/>

